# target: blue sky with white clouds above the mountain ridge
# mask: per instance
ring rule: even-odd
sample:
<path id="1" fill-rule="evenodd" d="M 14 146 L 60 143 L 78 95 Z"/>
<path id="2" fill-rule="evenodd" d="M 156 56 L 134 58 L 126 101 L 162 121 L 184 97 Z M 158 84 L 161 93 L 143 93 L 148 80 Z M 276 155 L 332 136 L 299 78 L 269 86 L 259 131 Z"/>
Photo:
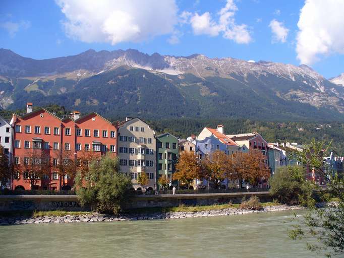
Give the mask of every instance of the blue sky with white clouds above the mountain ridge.
<path id="1" fill-rule="evenodd" d="M 88 49 L 234 57 L 344 73 L 344 0 L 2 0 L 0 48 L 35 59 Z"/>

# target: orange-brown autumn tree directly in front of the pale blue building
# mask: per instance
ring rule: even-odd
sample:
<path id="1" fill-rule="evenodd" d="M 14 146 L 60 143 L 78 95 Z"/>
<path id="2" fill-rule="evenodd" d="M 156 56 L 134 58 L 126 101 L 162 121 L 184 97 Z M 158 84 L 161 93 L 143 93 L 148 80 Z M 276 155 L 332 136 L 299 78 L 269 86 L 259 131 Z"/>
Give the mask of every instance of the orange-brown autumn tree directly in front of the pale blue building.
<path id="1" fill-rule="evenodd" d="M 226 178 L 226 171 L 230 169 L 229 165 L 228 155 L 223 151 L 216 150 L 202 160 L 201 177 L 212 182 L 214 188 L 218 189 Z"/>

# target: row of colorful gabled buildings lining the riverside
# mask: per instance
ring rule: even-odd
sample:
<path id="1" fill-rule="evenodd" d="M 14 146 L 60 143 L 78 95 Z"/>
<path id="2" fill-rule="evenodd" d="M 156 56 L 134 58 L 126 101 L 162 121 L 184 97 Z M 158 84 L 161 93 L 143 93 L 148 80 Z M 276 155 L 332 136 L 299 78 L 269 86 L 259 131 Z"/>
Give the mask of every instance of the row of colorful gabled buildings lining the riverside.
<path id="1" fill-rule="evenodd" d="M 149 184 L 146 189 L 153 190 L 157 188 L 160 176 L 166 176 L 170 185 L 175 183 L 171 175 L 183 151 L 193 152 L 202 159 L 215 150 L 228 155 L 259 150 L 273 174 L 280 166 L 296 163 L 289 158 L 289 151 L 302 150 L 302 146 L 297 144 L 267 143 L 258 133 L 226 135 L 223 125 L 205 127 L 198 136 L 178 139 L 169 133 L 157 135 L 140 118 L 127 117 L 121 122 L 111 122 L 97 113 L 81 116 L 78 111 L 58 117 L 44 108 L 34 110 L 32 103 L 27 103 L 25 114 L 13 114 L 10 122 L 0 117 L 0 144 L 13 167 L 29 162 L 39 163 L 42 162 L 41 157 L 48 157 L 51 168 L 44 178 L 37 181 L 35 188 L 51 190 L 60 190 L 62 185 L 65 188 L 73 185 L 73 178 L 67 175 L 61 178 L 58 173 L 64 152 L 68 153 L 69 159 L 75 160 L 85 152 L 99 156 L 109 153 L 118 157 L 120 171 L 132 178 L 135 190 L 142 190 L 137 183 L 139 173 L 147 173 Z M 29 158 L 33 156 L 34 159 Z M 8 187 L 31 188 L 25 171 L 14 171 L 13 174 Z M 191 187 L 200 187 L 205 183 L 204 180 L 196 180 Z M 224 185 L 236 187 L 237 182 L 224 182 Z"/>

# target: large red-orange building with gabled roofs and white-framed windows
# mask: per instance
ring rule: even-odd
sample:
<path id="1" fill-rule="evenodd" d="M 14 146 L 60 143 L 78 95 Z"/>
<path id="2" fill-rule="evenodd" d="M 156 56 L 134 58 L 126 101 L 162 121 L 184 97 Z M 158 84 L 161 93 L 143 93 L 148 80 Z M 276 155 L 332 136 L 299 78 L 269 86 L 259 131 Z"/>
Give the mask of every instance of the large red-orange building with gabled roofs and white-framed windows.
<path id="1" fill-rule="evenodd" d="M 30 162 L 42 164 L 45 161 L 48 167 L 35 188 L 59 190 L 61 185 L 66 189 L 73 185 L 73 178 L 59 175 L 60 162 L 71 159 L 77 164 L 78 156 L 84 151 L 99 156 L 107 152 L 117 154 L 116 125 L 97 113 L 80 117 L 78 111 L 73 111 L 70 116 L 60 118 L 43 108 L 32 110 L 32 103 L 27 103 L 26 114 L 13 114 L 11 124 L 14 127 L 13 162 L 18 168 L 13 189 L 31 189 L 28 173 L 24 171 Z"/>

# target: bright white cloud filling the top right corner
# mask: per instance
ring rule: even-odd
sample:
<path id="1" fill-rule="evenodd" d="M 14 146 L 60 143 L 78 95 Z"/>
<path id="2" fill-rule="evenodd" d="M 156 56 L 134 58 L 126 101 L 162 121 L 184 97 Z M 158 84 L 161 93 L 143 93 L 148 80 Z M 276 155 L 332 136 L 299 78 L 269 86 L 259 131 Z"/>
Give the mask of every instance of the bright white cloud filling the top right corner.
<path id="1" fill-rule="evenodd" d="M 344 1 L 307 0 L 300 12 L 296 51 L 301 63 L 319 55 L 344 54 Z"/>

